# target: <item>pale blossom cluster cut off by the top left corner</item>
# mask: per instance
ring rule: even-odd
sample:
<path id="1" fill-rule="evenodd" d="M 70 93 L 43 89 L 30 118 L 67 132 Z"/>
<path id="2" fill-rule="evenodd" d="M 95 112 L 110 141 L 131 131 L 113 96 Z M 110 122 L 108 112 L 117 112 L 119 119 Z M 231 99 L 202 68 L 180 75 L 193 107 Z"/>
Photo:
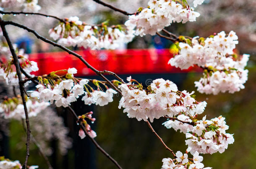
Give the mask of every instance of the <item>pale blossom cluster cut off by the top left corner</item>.
<path id="1" fill-rule="evenodd" d="M 0 7 L 2 8 L 21 8 L 24 12 L 38 12 L 41 6 L 37 4 L 38 0 L 1 0 Z"/>

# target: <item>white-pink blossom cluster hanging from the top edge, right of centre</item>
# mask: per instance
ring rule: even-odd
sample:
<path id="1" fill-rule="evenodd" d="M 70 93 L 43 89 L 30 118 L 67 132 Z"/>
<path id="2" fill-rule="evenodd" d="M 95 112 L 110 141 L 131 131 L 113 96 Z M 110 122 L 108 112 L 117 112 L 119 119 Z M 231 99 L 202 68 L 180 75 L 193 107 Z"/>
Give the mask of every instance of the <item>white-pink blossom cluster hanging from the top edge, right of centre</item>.
<path id="1" fill-rule="evenodd" d="M 194 5 L 197 6 L 203 1 L 195 0 Z M 130 15 L 125 25 L 133 29 L 136 28 L 135 35 L 155 35 L 156 32 L 169 26 L 172 22 L 193 22 L 200 16 L 187 3 L 179 4 L 177 2 L 175 0 L 149 0 L 149 7 L 141 10 L 138 15 Z"/>

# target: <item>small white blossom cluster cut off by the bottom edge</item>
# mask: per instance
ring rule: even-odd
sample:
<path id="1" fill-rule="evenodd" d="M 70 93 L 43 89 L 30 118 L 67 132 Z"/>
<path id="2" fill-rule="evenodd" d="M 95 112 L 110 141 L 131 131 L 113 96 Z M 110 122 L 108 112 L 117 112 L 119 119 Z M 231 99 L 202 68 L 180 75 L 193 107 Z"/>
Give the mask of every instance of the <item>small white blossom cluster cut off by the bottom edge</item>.
<path id="1" fill-rule="evenodd" d="M 188 154 L 183 154 L 180 151 L 177 151 L 175 155 L 176 159 L 162 159 L 162 169 L 212 169 L 212 167 L 204 168 L 204 164 L 201 163 L 204 158 L 199 156 L 197 151 L 193 154 L 193 159 L 189 159 Z"/>

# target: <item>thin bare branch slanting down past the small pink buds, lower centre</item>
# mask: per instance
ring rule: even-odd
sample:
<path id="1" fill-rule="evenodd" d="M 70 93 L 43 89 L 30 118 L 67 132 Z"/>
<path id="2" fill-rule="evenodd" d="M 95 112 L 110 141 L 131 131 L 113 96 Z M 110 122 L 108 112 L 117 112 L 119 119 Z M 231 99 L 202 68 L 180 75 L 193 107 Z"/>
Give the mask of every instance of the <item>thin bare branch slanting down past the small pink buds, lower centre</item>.
<path id="1" fill-rule="evenodd" d="M 104 154 L 105 156 L 107 156 L 108 159 L 110 159 L 119 169 L 122 169 L 122 167 L 118 164 L 117 161 L 115 161 L 115 159 L 113 159 L 109 154 L 107 154 L 107 152 L 102 149 L 101 146 L 99 146 L 99 144 L 87 133 L 84 125 L 81 123 L 81 121 L 79 121 L 78 116 L 76 115 L 76 112 L 73 110 L 73 108 L 71 108 L 71 106 L 68 106 L 68 110 L 71 111 L 71 113 L 73 114 L 73 116 L 76 118 L 76 121 L 78 121 L 79 126 L 81 127 L 81 129 L 84 131 L 85 135 L 87 137 L 89 137 L 89 139 L 92 141 L 92 143 L 96 146 L 97 149 L 99 149 L 99 151 L 102 152 L 102 154 Z"/>

